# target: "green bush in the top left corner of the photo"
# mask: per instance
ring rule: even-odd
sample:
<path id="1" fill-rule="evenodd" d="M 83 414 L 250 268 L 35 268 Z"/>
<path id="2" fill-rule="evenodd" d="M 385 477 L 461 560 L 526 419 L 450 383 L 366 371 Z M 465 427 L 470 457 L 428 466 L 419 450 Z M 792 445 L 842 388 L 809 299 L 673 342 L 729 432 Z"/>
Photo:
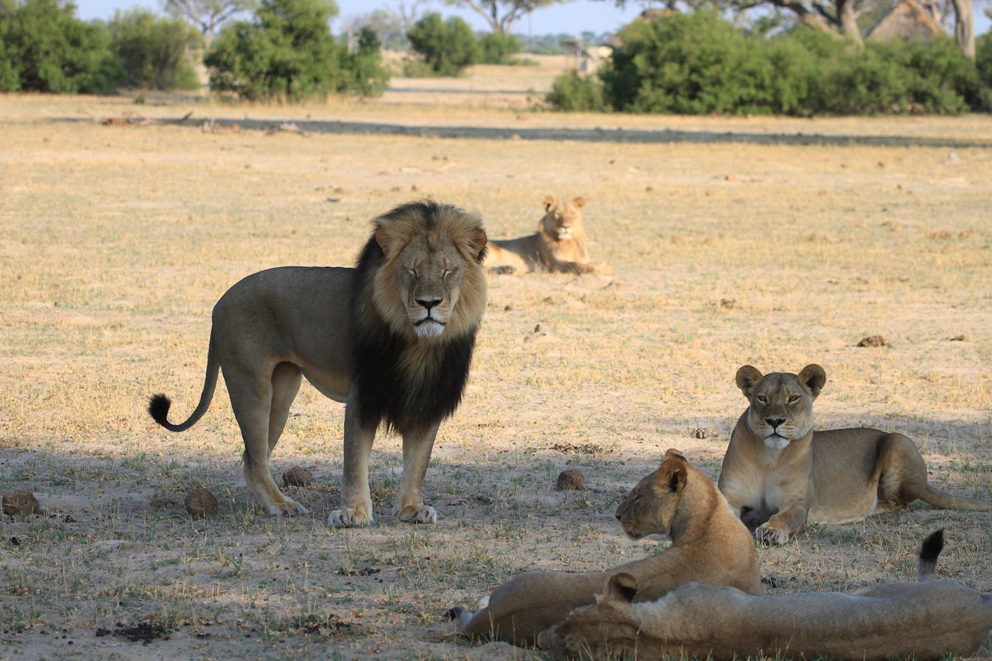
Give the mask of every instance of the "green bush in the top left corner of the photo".
<path id="1" fill-rule="evenodd" d="M 78 20 L 70 2 L 5 2 L 0 23 L 0 91 L 106 93 L 123 78 L 106 26 Z"/>

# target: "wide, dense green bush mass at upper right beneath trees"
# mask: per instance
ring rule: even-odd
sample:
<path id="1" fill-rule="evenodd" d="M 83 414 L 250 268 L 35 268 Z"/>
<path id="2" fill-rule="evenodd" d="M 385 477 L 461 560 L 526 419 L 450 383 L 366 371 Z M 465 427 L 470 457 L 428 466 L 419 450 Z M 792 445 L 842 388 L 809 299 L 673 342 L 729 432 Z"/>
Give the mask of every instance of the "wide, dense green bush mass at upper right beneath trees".
<path id="1" fill-rule="evenodd" d="M 950 38 L 859 50 L 806 28 L 772 38 L 745 34 L 710 11 L 635 21 L 620 37 L 622 46 L 598 74 L 601 107 L 615 110 L 809 116 L 988 107 L 981 59 L 972 66 Z M 579 94 L 576 79 L 559 76 L 549 102 L 594 107 L 577 100 L 594 92 L 583 87 Z"/>

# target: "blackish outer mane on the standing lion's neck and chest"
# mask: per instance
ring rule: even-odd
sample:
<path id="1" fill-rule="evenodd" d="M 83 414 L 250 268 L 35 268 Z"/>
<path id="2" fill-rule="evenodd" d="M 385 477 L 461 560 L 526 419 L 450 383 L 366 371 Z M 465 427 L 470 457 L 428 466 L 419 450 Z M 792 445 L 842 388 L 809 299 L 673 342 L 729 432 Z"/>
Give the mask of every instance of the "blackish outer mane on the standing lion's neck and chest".
<path id="1" fill-rule="evenodd" d="M 425 228 L 430 228 L 440 206 L 431 200 L 410 202 L 380 220 L 407 214 L 413 207 L 423 216 Z M 373 234 L 355 263 L 351 292 L 351 364 L 358 419 L 364 428 L 385 422 L 387 429 L 401 434 L 427 431 L 454 413 L 461 402 L 475 332 L 421 346 L 417 340 L 394 332 L 373 303 L 375 275 L 384 261 L 385 255 Z M 423 352 L 423 359 L 407 363 L 404 354 L 411 350 Z M 425 371 L 408 373 L 404 364 L 414 364 Z"/>

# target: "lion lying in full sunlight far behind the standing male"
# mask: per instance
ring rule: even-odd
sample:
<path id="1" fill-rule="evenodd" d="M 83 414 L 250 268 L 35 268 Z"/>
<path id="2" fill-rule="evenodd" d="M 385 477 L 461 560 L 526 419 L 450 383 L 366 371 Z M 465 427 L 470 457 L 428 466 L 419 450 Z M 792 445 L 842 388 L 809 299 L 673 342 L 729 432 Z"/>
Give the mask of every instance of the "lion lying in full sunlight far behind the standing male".
<path id="1" fill-rule="evenodd" d="M 538 233 L 515 239 L 489 239 L 485 267 L 497 273 L 601 273 L 609 266 L 594 264 L 585 249 L 582 207 L 585 198 L 562 202 L 544 199 L 545 215 Z"/>

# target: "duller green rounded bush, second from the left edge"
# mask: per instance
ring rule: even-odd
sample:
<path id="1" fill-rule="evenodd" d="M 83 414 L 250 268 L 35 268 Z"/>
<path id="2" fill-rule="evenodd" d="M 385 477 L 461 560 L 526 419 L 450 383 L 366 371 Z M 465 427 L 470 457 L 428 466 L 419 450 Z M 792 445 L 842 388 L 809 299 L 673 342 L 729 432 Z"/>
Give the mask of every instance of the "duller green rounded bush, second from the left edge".
<path id="1" fill-rule="evenodd" d="M 145 9 L 117 12 L 110 22 L 110 37 L 127 86 L 199 87 L 190 52 L 202 43 L 202 37 L 183 21 L 160 18 Z"/>

